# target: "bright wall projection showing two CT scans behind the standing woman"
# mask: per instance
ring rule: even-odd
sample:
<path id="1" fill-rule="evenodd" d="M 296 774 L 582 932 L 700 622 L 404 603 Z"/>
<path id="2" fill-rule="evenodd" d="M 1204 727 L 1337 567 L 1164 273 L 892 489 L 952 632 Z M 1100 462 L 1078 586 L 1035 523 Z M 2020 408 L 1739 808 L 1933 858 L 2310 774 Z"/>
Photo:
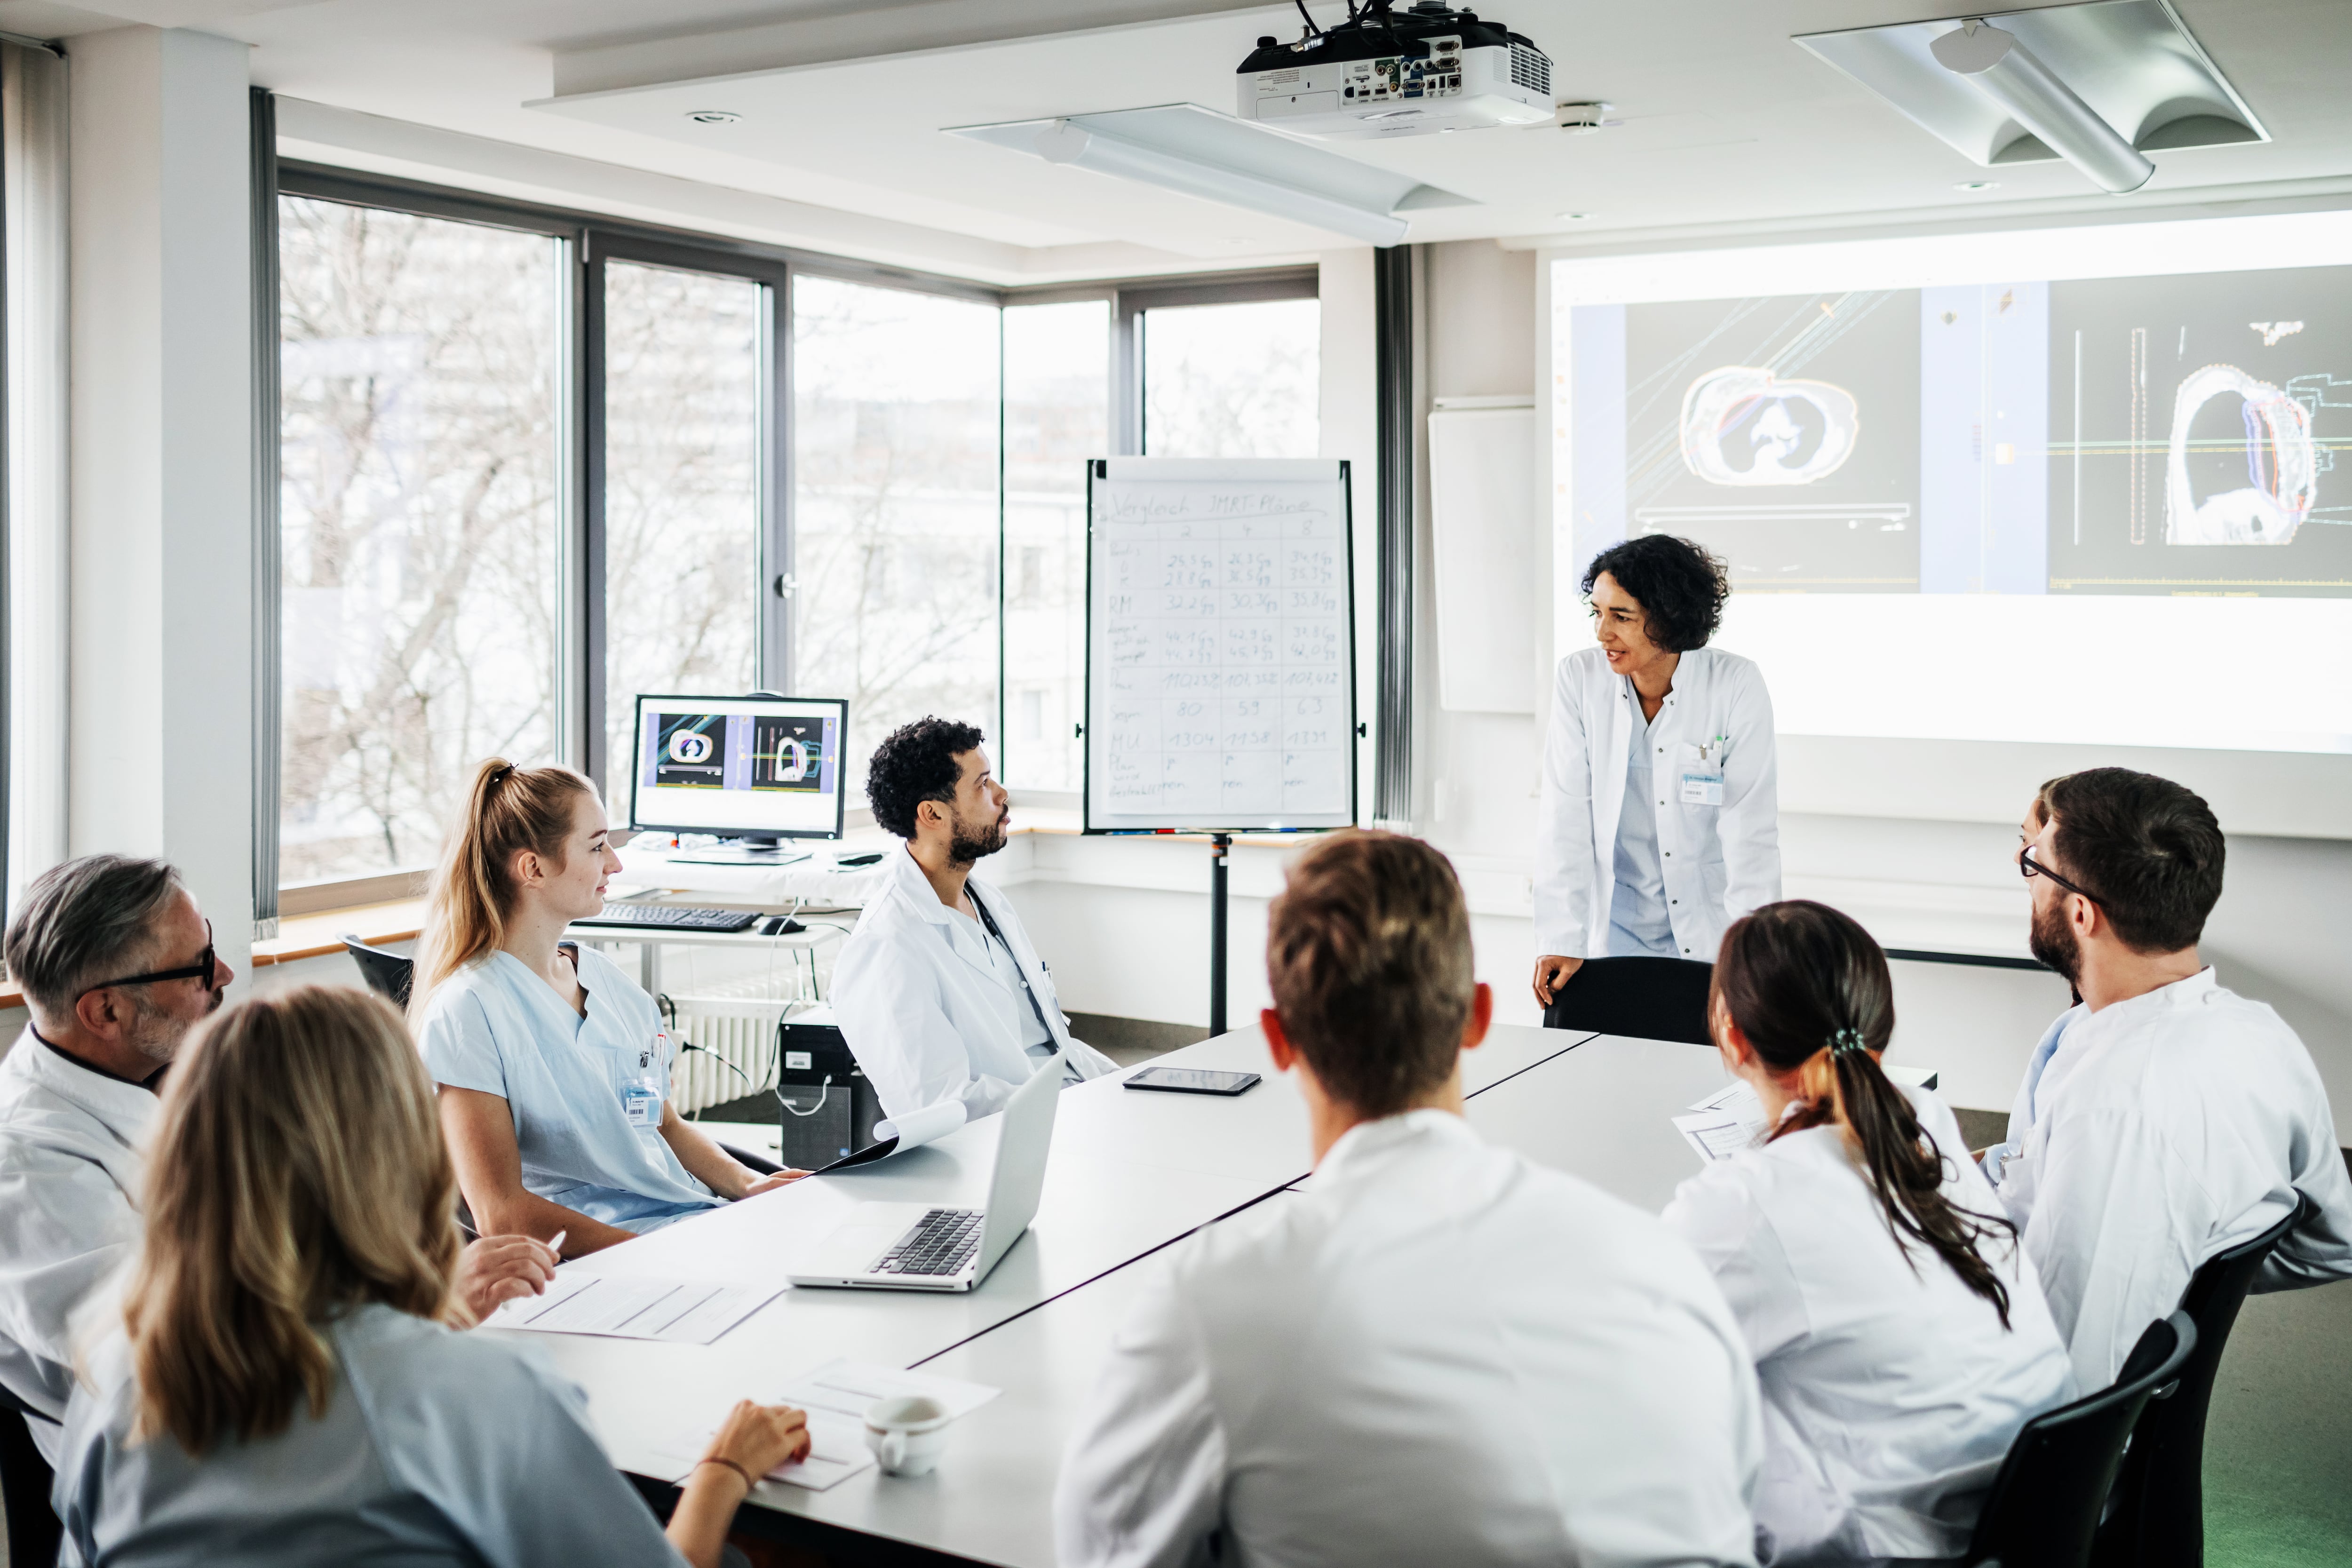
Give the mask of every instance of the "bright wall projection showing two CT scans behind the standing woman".
<path id="1" fill-rule="evenodd" d="M 1677 534 L 1783 736 L 2352 755 L 2345 261 L 2338 212 L 1555 256 L 1555 646 Z"/>

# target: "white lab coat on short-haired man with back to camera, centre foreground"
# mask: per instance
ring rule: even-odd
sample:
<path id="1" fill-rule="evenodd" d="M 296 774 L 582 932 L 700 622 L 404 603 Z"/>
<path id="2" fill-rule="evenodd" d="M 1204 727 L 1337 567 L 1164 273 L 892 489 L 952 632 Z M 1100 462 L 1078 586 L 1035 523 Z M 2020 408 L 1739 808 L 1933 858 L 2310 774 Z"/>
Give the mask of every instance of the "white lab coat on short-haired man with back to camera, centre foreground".
<path id="1" fill-rule="evenodd" d="M 1691 1251 L 1418 1110 L 1169 1251 L 1054 1535 L 1063 1568 L 1752 1563 L 1759 1453 L 1748 1347 Z"/>

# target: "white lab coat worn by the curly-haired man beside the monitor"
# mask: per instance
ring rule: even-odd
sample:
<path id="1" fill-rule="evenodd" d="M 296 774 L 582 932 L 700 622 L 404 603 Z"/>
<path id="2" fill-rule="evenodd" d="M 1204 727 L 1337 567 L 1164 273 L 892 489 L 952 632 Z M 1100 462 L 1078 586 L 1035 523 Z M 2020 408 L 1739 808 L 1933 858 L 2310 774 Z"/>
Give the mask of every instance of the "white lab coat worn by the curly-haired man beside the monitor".
<path id="1" fill-rule="evenodd" d="M 1037 1016 L 990 961 L 997 938 L 962 910 L 938 903 L 908 846 L 891 851 L 889 867 L 889 884 L 866 905 L 833 966 L 833 1016 L 884 1117 L 910 1117 L 946 1100 L 962 1100 L 967 1117 L 993 1117 L 1040 1065 L 1058 1072 L 1068 1063 L 1082 1079 L 1117 1072 L 1108 1056 L 1070 1039 L 1054 976 L 1037 959 L 1011 898 L 978 877 L 964 884 L 974 900 L 988 905 L 1037 992 L 1047 1030 L 1061 1048 L 1051 1060 L 1025 1048 L 1037 1037 Z"/>

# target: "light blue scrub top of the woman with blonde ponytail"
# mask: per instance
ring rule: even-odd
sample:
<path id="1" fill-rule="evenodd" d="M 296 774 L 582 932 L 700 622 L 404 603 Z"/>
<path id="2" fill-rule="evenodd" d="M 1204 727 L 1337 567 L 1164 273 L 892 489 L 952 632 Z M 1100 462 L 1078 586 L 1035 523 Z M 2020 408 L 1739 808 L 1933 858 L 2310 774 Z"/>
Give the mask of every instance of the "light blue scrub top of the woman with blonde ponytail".
<path id="1" fill-rule="evenodd" d="M 440 983 L 416 1020 L 437 1084 L 506 1100 L 522 1150 L 522 1185 L 590 1220 L 647 1232 L 717 1197 L 687 1175 L 661 1135 L 675 1044 L 661 1011 L 621 966 L 576 947 L 588 990 L 581 1018 L 510 952 L 492 952 Z M 628 1093 L 659 1088 L 649 1124 L 633 1126 Z"/>

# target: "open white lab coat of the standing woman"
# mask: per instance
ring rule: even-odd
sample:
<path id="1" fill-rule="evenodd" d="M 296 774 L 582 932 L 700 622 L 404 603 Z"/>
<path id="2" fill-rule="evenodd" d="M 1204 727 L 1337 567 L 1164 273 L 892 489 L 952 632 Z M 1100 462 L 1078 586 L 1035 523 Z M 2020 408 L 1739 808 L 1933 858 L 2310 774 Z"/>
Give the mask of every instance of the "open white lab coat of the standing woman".
<path id="1" fill-rule="evenodd" d="M 1543 741 L 1536 813 L 1536 952 L 1595 959 L 1609 952 L 1616 832 L 1625 806 L 1625 752 L 1642 705 L 1602 649 L 1559 661 L 1552 726 Z M 1724 745 L 1722 738 L 1729 738 Z M 1755 663 L 1691 649 L 1649 729 L 1665 912 L 1677 957 L 1715 961 L 1724 929 L 1780 898 L 1780 802 L 1771 693 Z M 1705 750 L 1700 750 L 1705 748 Z M 1684 799 L 1686 769 L 1722 769 L 1722 804 Z M 1661 804 L 1663 802 L 1663 804 Z"/>

